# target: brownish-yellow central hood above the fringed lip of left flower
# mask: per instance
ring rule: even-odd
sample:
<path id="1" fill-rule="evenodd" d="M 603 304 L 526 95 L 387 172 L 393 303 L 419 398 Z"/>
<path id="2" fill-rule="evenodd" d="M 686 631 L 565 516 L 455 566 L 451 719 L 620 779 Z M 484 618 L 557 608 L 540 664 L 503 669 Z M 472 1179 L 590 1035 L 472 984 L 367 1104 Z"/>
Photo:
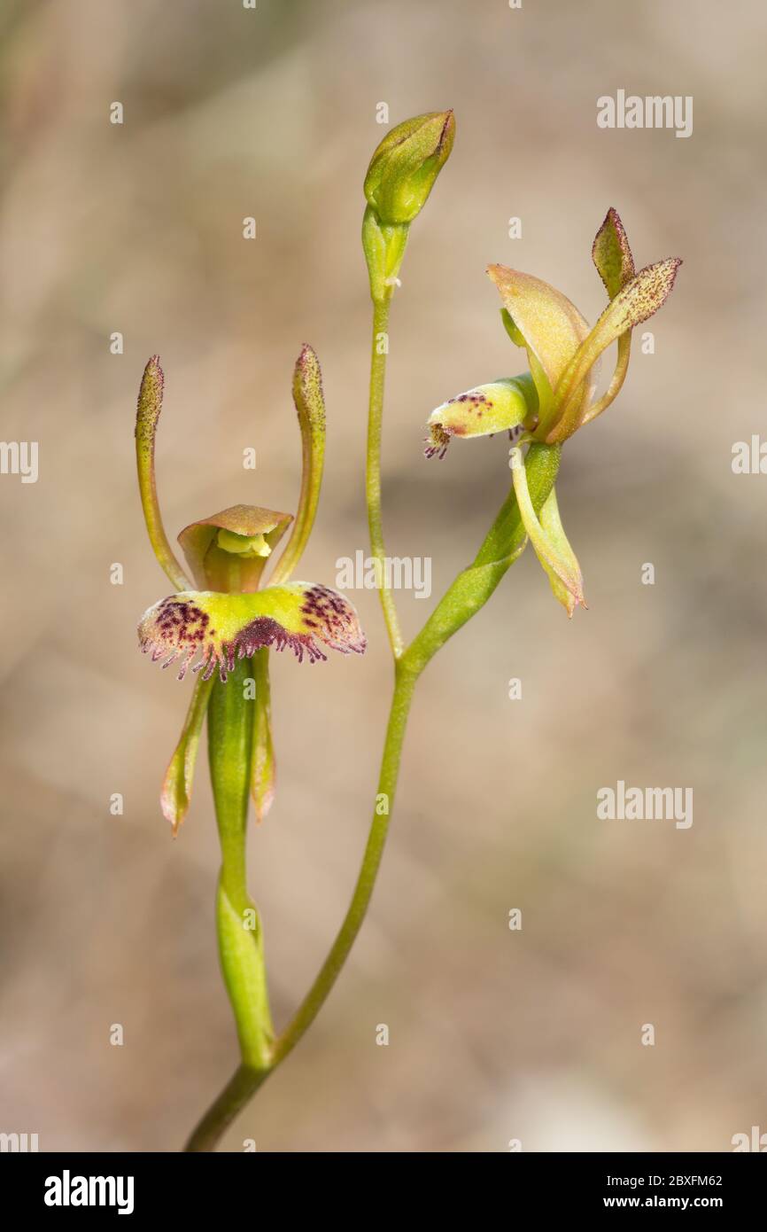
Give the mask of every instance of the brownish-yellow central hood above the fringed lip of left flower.
<path id="1" fill-rule="evenodd" d="M 273 509 L 231 505 L 185 526 L 179 542 L 198 586 L 257 590 L 266 561 L 292 521 L 291 514 Z"/>

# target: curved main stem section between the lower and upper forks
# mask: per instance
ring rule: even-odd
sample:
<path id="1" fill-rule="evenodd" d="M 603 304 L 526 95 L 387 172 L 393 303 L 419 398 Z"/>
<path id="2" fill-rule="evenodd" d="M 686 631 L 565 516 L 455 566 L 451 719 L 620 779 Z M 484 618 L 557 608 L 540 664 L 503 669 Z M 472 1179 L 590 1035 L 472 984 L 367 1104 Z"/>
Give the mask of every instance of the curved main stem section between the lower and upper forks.
<path id="1" fill-rule="evenodd" d="M 387 737 L 380 761 L 380 774 L 378 779 L 375 806 L 373 809 L 373 821 L 371 823 L 371 830 L 364 855 L 362 857 L 362 866 L 357 877 L 357 885 L 355 886 L 352 901 L 343 918 L 343 923 L 339 929 L 337 936 L 316 979 L 307 993 L 295 1016 L 275 1044 L 275 1066 L 279 1064 L 281 1061 L 284 1061 L 287 1055 L 295 1047 L 302 1035 L 319 1014 L 332 986 L 339 978 L 341 968 L 348 957 L 348 952 L 355 944 L 355 939 L 362 928 L 362 922 L 364 920 L 371 898 L 373 896 L 375 877 L 378 875 L 389 830 L 389 821 L 394 807 L 394 793 L 396 791 L 396 781 L 399 777 L 400 755 L 403 752 L 408 715 L 410 713 L 410 703 L 412 701 L 416 679 L 417 675 L 415 673 L 403 669 L 401 665 L 395 668 L 394 694 L 392 697 L 389 723 L 387 726 Z"/>

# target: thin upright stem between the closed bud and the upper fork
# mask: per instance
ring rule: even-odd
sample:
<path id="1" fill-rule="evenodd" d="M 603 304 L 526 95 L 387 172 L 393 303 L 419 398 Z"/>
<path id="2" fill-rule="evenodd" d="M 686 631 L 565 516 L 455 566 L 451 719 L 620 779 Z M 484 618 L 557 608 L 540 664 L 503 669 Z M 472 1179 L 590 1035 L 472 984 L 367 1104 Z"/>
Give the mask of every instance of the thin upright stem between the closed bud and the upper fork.
<path id="1" fill-rule="evenodd" d="M 371 346 L 371 397 L 368 408 L 368 445 L 366 468 L 366 495 L 368 508 L 368 526 L 371 531 L 371 554 L 374 562 L 380 606 L 392 653 L 395 659 L 403 653 L 403 634 L 394 595 L 387 577 L 383 520 L 380 513 L 380 436 L 383 421 L 384 379 L 387 375 L 387 349 L 389 329 L 389 306 L 392 291 L 387 288 L 380 299 L 373 301 L 373 339 Z"/>

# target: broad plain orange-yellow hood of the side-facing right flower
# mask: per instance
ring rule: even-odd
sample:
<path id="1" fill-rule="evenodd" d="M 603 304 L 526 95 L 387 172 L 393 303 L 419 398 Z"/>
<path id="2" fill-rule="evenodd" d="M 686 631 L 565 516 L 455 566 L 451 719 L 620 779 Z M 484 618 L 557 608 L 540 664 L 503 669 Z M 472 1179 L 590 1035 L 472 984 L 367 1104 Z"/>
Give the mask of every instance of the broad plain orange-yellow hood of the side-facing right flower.
<path id="1" fill-rule="evenodd" d="M 575 304 L 548 282 L 505 265 L 490 265 L 488 274 L 527 347 L 538 389 L 539 415 L 545 421 L 553 405 L 553 391 L 587 336 L 588 324 Z"/>

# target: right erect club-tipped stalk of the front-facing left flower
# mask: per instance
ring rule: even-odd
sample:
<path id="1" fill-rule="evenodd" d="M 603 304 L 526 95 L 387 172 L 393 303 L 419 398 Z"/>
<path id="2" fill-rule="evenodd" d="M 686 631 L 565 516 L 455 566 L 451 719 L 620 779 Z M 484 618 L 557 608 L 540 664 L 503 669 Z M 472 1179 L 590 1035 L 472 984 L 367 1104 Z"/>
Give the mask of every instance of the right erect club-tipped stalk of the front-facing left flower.
<path id="1" fill-rule="evenodd" d="M 300 561 L 309 541 L 325 466 L 325 398 L 316 352 L 304 344 L 293 370 L 293 402 L 302 441 L 302 480 L 298 513 L 291 537 L 277 562 L 272 582 L 284 582 Z"/>

